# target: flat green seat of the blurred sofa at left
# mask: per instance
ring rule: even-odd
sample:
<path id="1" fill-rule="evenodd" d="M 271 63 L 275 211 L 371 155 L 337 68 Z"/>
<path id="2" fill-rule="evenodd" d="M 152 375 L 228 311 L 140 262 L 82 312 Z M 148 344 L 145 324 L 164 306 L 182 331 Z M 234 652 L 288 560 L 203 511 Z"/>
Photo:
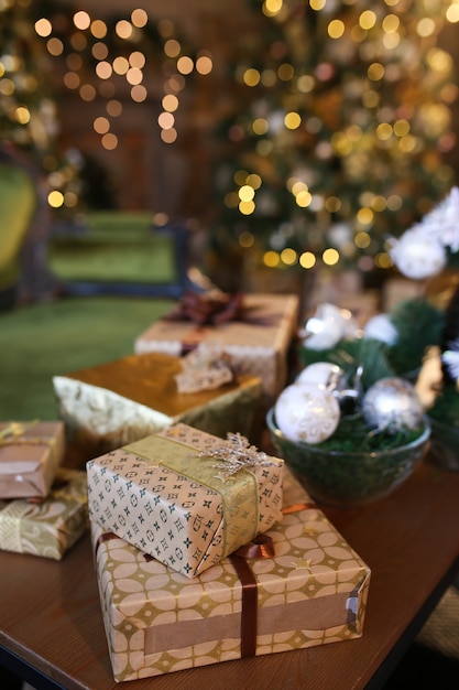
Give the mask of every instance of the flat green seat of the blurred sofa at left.
<path id="1" fill-rule="evenodd" d="M 131 355 L 135 337 L 175 305 L 97 295 L 0 311 L 0 421 L 57 419 L 54 375 Z"/>

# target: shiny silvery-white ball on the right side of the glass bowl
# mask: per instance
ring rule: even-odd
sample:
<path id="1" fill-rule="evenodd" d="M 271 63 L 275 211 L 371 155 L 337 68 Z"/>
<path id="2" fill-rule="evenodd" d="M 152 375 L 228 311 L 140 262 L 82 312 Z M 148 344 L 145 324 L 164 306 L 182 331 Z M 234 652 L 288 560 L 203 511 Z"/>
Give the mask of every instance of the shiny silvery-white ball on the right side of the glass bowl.
<path id="1" fill-rule="evenodd" d="M 423 403 L 415 387 L 396 376 L 381 378 L 373 384 L 362 401 L 365 422 L 374 429 L 415 429 L 424 414 Z"/>

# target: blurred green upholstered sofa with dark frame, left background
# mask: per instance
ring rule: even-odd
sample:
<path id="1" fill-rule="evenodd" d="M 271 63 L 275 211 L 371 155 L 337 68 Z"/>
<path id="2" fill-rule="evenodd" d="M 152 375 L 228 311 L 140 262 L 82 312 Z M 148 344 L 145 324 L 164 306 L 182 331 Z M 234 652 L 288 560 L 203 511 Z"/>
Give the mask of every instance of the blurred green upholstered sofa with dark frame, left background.
<path id="1" fill-rule="evenodd" d="M 132 354 L 193 287 L 185 227 L 124 212 L 51 223 L 22 163 L 0 152 L 0 421 L 56 419 L 54 375 Z"/>

